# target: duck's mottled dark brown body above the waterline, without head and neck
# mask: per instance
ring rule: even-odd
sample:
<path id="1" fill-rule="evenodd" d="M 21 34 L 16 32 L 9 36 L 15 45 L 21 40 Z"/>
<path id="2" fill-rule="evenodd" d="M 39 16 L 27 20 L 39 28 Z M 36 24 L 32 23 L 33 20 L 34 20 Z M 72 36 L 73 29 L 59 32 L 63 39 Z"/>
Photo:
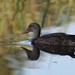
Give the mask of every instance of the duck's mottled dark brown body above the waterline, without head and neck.
<path id="1" fill-rule="evenodd" d="M 34 42 L 39 45 L 61 45 L 61 46 L 75 46 L 75 35 L 65 33 L 53 33 L 43 35 Z"/>

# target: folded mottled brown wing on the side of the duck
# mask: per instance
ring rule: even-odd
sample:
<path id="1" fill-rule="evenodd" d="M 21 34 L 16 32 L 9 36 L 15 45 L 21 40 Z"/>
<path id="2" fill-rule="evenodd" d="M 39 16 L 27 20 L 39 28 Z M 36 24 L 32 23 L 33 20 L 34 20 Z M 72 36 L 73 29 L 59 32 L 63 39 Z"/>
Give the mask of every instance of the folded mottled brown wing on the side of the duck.
<path id="1" fill-rule="evenodd" d="M 42 44 L 42 45 L 59 45 L 61 40 L 60 38 L 65 38 L 65 33 L 53 33 L 48 35 L 43 35 L 35 40 L 35 44 Z"/>

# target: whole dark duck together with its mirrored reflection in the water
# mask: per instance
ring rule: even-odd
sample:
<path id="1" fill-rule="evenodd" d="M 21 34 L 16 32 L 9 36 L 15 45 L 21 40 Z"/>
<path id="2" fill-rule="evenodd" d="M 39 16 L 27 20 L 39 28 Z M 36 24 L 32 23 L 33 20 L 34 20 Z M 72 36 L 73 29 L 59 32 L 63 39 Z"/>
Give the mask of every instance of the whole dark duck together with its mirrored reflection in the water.
<path id="1" fill-rule="evenodd" d="M 51 54 L 69 55 L 75 58 L 75 35 L 66 33 L 51 33 L 40 36 L 41 27 L 38 23 L 31 23 L 23 34 L 33 32 L 32 39 L 33 51 L 22 47 L 30 60 L 37 60 L 40 50 Z"/>

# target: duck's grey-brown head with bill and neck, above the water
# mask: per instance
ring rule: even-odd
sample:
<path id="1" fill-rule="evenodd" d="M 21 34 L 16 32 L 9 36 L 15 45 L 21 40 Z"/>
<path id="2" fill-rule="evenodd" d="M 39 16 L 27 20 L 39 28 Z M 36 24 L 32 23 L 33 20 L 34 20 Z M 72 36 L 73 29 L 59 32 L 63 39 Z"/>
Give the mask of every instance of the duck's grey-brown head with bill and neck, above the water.
<path id="1" fill-rule="evenodd" d="M 33 38 L 38 38 L 40 36 L 40 30 L 40 25 L 38 23 L 31 23 L 22 34 L 33 32 Z"/>

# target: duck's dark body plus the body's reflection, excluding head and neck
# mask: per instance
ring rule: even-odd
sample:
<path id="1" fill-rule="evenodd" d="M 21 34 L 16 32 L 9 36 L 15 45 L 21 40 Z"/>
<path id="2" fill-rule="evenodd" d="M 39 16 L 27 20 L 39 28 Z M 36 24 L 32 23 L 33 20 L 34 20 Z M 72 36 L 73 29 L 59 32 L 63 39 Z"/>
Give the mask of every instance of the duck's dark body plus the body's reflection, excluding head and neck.
<path id="1" fill-rule="evenodd" d="M 68 55 L 75 51 L 75 36 L 65 33 L 48 34 L 32 40 L 32 45 L 48 53 Z"/>

